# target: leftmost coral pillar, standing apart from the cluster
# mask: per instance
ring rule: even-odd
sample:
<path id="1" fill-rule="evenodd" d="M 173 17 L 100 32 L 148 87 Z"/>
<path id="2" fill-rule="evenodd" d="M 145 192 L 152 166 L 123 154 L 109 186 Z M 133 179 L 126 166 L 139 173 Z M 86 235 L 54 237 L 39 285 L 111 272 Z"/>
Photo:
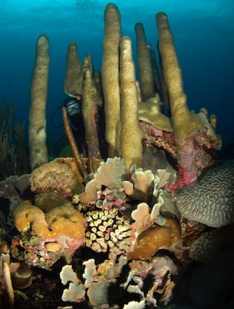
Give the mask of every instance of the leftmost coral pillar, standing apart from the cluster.
<path id="1" fill-rule="evenodd" d="M 31 107 L 29 113 L 29 156 L 31 169 L 47 163 L 45 106 L 50 66 L 49 40 L 39 36 L 36 60 L 31 81 Z"/>

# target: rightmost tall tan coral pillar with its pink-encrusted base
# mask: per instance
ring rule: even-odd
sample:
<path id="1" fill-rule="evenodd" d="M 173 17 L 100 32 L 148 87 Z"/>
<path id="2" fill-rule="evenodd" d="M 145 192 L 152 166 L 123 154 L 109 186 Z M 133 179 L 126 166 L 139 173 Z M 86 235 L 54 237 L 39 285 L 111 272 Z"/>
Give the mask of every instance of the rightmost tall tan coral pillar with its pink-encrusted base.
<path id="1" fill-rule="evenodd" d="M 204 113 L 189 112 L 181 68 L 167 15 L 157 13 L 156 24 L 163 77 L 168 89 L 173 131 L 177 143 L 179 165 L 177 186 L 180 187 L 196 181 L 201 170 L 207 167 L 212 160 L 208 151 L 212 148 L 220 149 L 221 138 L 214 132 Z"/>

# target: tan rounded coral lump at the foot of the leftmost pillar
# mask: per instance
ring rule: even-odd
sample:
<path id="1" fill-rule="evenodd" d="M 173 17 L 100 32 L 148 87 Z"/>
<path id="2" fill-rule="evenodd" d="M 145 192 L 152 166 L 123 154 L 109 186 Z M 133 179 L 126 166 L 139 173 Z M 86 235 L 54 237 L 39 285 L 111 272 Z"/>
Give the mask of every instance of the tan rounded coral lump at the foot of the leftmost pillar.
<path id="1" fill-rule="evenodd" d="M 30 175 L 33 193 L 57 193 L 64 197 L 76 193 L 79 186 L 73 169 L 64 163 L 50 162 L 34 169 Z"/>

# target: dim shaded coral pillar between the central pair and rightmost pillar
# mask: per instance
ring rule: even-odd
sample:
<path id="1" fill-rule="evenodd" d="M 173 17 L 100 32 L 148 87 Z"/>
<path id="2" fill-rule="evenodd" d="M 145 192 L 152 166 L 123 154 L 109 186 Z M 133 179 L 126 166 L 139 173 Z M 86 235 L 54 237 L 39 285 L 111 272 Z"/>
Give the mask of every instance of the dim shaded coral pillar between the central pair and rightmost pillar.
<path id="1" fill-rule="evenodd" d="M 135 25 L 135 31 L 140 91 L 142 93 L 142 100 L 146 102 L 149 98 L 154 96 L 155 92 L 151 56 L 149 51 L 150 45 L 146 42 L 145 29 L 140 22 Z"/>

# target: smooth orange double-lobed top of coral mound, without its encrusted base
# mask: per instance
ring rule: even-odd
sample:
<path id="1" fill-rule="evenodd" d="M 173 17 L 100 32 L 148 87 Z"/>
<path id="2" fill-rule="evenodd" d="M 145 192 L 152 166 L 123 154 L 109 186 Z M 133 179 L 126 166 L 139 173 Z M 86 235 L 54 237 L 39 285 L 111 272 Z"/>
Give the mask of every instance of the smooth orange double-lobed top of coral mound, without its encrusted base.
<path id="1" fill-rule="evenodd" d="M 67 202 L 45 213 L 30 201 L 24 201 L 13 213 L 14 225 L 19 232 L 31 229 L 42 239 L 57 235 L 85 236 L 85 218 Z"/>

